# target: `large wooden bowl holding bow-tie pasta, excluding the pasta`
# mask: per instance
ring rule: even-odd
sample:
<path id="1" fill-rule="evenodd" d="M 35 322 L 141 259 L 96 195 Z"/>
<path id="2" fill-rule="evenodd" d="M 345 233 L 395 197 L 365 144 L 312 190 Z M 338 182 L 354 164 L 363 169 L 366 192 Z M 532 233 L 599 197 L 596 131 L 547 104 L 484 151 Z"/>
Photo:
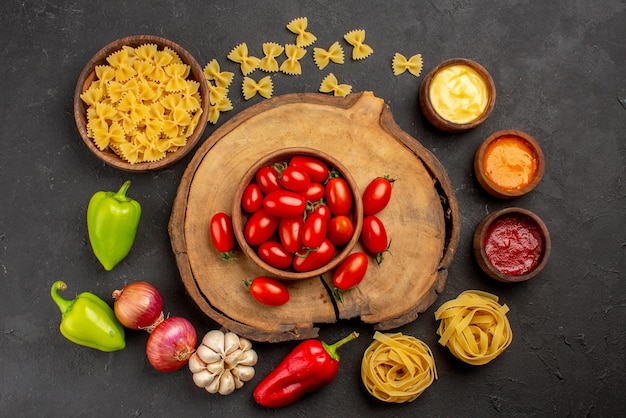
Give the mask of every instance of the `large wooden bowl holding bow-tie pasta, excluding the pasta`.
<path id="1" fill-rule="evenodd" d="M 162 158 L 158 161 L 139 162 L 131 164 L 130 162 L 118 156 L 110 148 L 106 148 L 101 151 L 95 145 L 93 140 L 89 138 L 89 136 L 87 135 L 87 106 L 85 102 L 83 102 L 83 100 L 80 98 L 80 95 L 89 88 L 94 80 L 96 80 L 96 66 L 108 64 L 106 59 L 109 55 L 120 50 L 124 46 L 135 48 L 145 44 L 156 44 L 159 51 L 163 50 L 165 47 L 170 48 L 174 52 L 176 52 L 176 54 L 180 57 L 183 63 L 190 66 L 191 71 L 187 76 L 187 80 L 194 80 L 200 83 L 200 88 L 198 92 L 201 99 L 202 114 L 200 115 L 200 119 L 196 128 L 194 129 L 194 132 L 187 138 L 187 143 L 185 146 L 179 148 L 174 152 L 168 152 L 165 158 Z M 87 65 L 85 65 L 82 72 L 80 73 L 80 76 L 78 77 L 78 82 L 76 83 L 76 88 L 74 91 L 74 119 L 76 120 L 76 126 L 78 127 L 78 132 L 80 133 L 83 141 L 85 142 L 89 150 L 93 152 L 94 155 L 96 155 L 96 157 L 98 157 L 100 160 L 104 161 L 108 165 L 125 171 L 143 172 L 158 170 L 168 167 L 179 161 L 187 153 L 189 153 L 189 151 L 191 151 L 198 143 L 200 137 L 204 132 L 204 129 L 206 128 L 208 115 L 209 88 L 202 67 L 200 66 L 200 64 L 198 64 L 195 58 L 182 46 L 168 39 L 164 39 L 158 36 L 134 35 L 120 38 L 109 43 L 108 45 L 100 49 L 89 60 Z"/>

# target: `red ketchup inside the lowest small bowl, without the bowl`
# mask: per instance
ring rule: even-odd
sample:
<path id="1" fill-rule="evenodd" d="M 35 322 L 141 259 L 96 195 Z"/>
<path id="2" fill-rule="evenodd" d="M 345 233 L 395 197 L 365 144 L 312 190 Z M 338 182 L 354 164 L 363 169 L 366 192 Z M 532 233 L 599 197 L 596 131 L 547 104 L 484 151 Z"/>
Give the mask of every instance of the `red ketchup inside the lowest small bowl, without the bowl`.
<path id="1" fill-rule="evenodd" d="M 509 214 L 496 219 L 485 234 L 485 253 L 501 273 L 521 276 L 541 261 L 543 237 L 528 216 Z"/>

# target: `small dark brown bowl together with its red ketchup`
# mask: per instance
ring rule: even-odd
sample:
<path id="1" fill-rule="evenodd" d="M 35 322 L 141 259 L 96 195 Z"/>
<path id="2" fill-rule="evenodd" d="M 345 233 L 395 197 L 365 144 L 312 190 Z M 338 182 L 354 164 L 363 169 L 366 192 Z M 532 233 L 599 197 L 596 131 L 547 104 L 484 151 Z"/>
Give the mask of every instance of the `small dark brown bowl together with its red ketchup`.
<path id="1" fill-rule="evenodd" d="M 546 266 L 552 243 L 550 232 L 533 212 L 517 207 L 487 215 L 473 239 L 474 256 L 480 268 L 500 282 L 532 279 Z"/>

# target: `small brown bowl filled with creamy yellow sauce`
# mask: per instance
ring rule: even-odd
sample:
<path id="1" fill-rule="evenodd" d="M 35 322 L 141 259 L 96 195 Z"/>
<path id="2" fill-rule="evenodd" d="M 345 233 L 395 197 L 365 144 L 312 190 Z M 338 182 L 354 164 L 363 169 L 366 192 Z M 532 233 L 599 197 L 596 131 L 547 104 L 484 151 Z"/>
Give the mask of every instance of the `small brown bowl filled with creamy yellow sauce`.
<path id="1" fill-rule="evenodd" d="M 472 94 L 472 92 L 478 91 L 479 93 L 483 92 L 486 96 L 481 100 L 480 105 L 474 105 L 474 107 L 484 106 L 480 113 L 474 115 L 473 113 L 477 112 L 461 105 L 461 100 L 466 101 L 466 98 L 459 97 L 458 92 L 446 89 L 446 84 L 443 81 L 438 81 L 446 74 L 452 74 L 451 71 L 454 72 L 455 69 L 463 69 L 465 73 L 472 76 L 462 78 L 465 82 L 473 84 L 469 85 L 469 89 L 465 89 L 463 94 Z M 453 77 L 456 78 L 456 84 L 458 84 L 461 77 L 458 75 Z M 482 86 L 476 86 L 477 83 Z M 436 100 L 437 96 L 440 95 L 445 95 L 458 106 L 443 109 Z M 473 99 L 478 100 L 479 95 L 473 96 Z M 467 58 L 453 58 L 443 61 L 426 74 L 420 85 L 419 101 L 422 113 L 434 127 L 444 132 L 461 133 L 477 127 L 489 117 L 496 103 L 496 86 L 489 72 L 476 61 Z M 463 114 L 462 117 L 461 114 Z"/>

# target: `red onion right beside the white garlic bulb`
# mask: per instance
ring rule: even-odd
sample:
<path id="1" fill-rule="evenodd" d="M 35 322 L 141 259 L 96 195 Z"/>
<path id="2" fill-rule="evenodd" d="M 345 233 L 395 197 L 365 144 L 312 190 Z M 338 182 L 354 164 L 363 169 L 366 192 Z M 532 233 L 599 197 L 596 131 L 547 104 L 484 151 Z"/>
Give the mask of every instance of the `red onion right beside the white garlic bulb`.
<path id="1" fill-rule="evenodd" d="M 157 325 L 146 344 L 148 361 L 161 372 L 183 367 L 195 349 L 196 330 L 180 316 L 169 317 Z"/>

